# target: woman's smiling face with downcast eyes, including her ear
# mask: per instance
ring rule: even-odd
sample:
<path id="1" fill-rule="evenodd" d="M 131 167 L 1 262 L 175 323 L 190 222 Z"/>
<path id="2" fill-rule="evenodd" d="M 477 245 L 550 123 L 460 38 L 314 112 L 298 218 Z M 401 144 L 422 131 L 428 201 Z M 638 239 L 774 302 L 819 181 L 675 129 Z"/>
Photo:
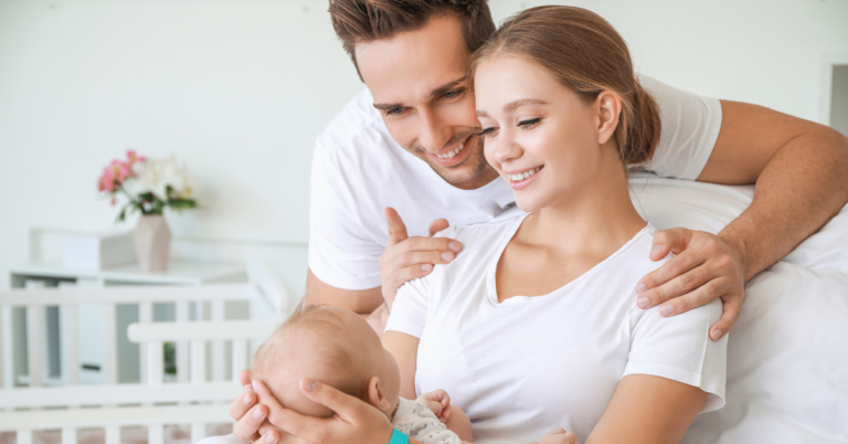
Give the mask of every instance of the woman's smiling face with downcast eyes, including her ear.
<path id="1" fill-rule="evenodd" d="M 515 56 L 485 60 L 474 84 L 486 160 L 521 210 L 568 200 L 591 181 L 601 163 L 596 104 Z"/>

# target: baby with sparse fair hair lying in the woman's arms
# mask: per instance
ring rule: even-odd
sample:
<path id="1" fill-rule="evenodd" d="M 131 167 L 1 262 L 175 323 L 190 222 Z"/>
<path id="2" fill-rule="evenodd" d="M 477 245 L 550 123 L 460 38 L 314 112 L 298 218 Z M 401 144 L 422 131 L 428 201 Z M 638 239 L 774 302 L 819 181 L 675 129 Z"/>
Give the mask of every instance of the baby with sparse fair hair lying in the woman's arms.
<path id="1" fill-rule="evenodd" d="M 288 318 L 253 357 L 251 376 L 262 380 L 279 403 L 301 414 L 331 416 L 306 398 L 298 381 L 310 378 L 359 398 L 385 414 L 392 426 L 424 444 L 471 442 L 468 416 L 444 390 L 415 401 L 400 398 L 401 372 L 377 332 L 353 311 L 308 306 Z M 554 430 L 539 444 L 559 444 Z"/>

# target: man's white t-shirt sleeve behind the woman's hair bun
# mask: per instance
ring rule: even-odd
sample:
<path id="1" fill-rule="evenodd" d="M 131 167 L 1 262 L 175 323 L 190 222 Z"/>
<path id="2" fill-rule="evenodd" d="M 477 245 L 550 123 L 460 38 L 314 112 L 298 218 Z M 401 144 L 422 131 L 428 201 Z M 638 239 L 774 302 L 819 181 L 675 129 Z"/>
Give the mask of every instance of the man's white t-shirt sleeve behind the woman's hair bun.
<path id="1" fill-rule="evenodd" d="M 677 89 L 639 76 L 639 82 L 659 105 L 662 131 L 654 158 L 642 169 L 662 177 L 695 180 L 712 155 L 721 129 L 721 102 Z"/>

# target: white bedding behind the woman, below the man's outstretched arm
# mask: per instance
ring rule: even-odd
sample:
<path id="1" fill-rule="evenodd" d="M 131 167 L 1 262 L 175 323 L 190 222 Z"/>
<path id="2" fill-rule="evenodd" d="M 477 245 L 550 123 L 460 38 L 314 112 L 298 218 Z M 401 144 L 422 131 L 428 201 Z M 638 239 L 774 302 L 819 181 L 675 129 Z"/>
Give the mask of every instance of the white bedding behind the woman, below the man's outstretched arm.
<path id="1" fill-rule="evenodd" d="M 753 195 L 644 175 L 630 189 L 656 226 L 712 233 Z M 698 415 L 682 442 L 848 443 L 848 208 L 748 284 L 728 342 L 727 405 Z"/>

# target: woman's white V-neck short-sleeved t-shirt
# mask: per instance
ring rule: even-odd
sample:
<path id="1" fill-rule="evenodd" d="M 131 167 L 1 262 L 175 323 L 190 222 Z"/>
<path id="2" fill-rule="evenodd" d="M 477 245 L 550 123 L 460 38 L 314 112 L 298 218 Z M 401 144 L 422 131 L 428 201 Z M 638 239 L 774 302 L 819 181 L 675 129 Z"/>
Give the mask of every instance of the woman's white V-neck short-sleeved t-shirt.
<path id="1" fill-rule="evenodd" d="M 636 306 L 636 283 L 664 263 L 648 260 L 653 225 L 553 293 L 499 303 L 496 266 L 524 218 L 445 230 L 466 249 L 398 292 L 386 331 L 421 338 L 418 394 L 446 390 L 479 444 L 537 441 L 554 427 L 583 442 L 634 373 L 701 388 L 701 412 L 724 404 L 727 336 L 708 338 L 721 303 L 670 318 Z"/>

